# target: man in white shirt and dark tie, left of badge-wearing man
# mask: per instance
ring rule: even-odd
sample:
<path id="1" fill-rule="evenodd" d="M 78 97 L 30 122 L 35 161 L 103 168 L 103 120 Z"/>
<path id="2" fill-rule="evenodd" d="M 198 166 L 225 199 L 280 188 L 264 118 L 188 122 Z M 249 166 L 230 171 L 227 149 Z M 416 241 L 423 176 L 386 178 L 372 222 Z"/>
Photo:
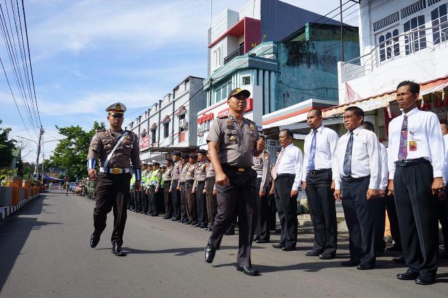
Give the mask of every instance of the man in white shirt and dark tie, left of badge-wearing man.
<path id="1" fill-rule="evenodd" d="M 379 142 L 375 133 L 362 128 L 364 111 L 349 107 L 344 126 L 349 131 L 339 138 L 335 175 L 335 199 L 342 208 L 349 228 L 350 260 L 342 266 L 359 270 L 375 268 L 375 203 L 379 188 Z"/>

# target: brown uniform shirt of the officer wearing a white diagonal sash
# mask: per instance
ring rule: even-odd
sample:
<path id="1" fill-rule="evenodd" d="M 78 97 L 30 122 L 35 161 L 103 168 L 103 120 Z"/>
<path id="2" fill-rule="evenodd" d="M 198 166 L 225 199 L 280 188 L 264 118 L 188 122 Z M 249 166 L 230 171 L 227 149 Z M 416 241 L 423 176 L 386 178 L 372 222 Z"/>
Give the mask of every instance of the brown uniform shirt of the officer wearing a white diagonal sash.
<path id="1" fill-rule="evenodd" d="M 110 129 L 97 131 L 91 140 L 87 159 L 98 158 L 99 166 L 103 166 L 108 154 L 113 150 L 124 132 L 125 131 L 123 130 L 121 132 L 112 132 Z M 113 153 L 107 167 L 130 169 L 130 164 L 132 162 L 134 169 L 141 169 L 138 140 L 139 138 L 136 134 L 128 132 L 128 135 Z"/>

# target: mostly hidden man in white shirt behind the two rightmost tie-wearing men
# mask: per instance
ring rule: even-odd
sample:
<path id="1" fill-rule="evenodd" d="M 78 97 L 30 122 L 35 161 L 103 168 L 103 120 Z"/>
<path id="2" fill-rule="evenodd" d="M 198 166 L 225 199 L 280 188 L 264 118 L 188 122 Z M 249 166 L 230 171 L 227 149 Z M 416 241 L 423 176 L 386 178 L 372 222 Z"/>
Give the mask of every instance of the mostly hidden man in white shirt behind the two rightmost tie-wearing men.
<path id="1" fill-rule="evenodd" d="M 364 129 L 375 133 L 375 126 L 370 121 L 362 123 Z M 386 242 L 384 241 L 384 229 L 386 228 L 386 188 L 388 187 L 388 153 L 386 147 L 379 142 L 379 193 L 378 197 L 373 199 L 375 203 L 375 253 L 381 255 L 386 249 Z"/>

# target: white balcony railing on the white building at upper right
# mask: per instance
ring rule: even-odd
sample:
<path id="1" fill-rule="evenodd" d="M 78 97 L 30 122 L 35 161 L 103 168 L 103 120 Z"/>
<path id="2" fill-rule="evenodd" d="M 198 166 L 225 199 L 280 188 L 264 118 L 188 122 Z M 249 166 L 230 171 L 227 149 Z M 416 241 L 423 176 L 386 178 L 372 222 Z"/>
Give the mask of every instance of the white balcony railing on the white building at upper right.
<path id="1" fill-rule="evenodd" d="M 414 29 L 379 43 L 370 53 L 342 62 L 342 82 L 369 75 L 379 66 L 419 51 L 434 51 L 448 41 L 448 21 L 434 27 Z"/>

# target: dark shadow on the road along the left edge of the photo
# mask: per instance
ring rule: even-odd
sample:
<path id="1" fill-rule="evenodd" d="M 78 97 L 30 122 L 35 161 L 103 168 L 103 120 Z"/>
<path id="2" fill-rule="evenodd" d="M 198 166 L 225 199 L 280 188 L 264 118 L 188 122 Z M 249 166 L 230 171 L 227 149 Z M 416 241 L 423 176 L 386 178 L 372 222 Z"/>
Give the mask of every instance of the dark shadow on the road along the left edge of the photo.
<path id="1" fill-rule="evenodd" d="M 23 245 L 25 245 L 28 236 L 30 236 L 30 232 L 45 225 L 60 224 L 37 221 L 37 217 L 25 217 L 42 213 L 43 205 L 45 205 L 43 201 L 47 198 L 47 195 L 40 195 L 38 199 L 34 199 L 23 206 L 19 212 L 12 214 L 8 219 L 0 221 L 0 293 L 16 259 L 21 254 Z"/>

